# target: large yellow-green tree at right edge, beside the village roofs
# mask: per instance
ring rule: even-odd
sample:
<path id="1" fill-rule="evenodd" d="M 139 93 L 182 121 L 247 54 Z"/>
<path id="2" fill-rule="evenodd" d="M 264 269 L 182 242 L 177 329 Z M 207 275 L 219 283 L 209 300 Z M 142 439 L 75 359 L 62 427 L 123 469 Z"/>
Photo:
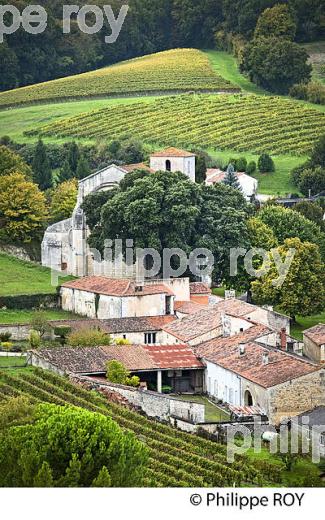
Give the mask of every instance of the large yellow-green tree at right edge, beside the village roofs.
<path id="1" fill-rule="evenodd" d="M 283 284 L 274 285 L 279 274 L 272 260 L 270 271 L 252 283 L 254 299 L 261 305 L 277 305 L 293 319 L 298 314 L 317 314 L 325 305 L 325 269 L 319 248 L 316 244 L 301 242 L 299 238 L 290 238 L 277 248 L 282 262 L 290 249 L 295 255 L 289 272 L 281 280 Z"/>

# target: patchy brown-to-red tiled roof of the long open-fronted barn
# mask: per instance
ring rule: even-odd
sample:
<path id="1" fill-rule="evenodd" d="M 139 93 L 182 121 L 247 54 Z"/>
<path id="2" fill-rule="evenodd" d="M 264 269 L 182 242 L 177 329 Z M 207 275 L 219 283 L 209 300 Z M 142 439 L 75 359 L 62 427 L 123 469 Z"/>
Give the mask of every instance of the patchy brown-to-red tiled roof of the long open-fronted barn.
<path id="1" fill-rule="evenodd" d="M 141 346 L 121 345 L 107 347 L 50 348 L 34 353 L 64 372 L 95 374 L 106 372 L 106 363 L 119 361 L 131 372 L 161 368 L 202 368 L 193 351 L 186 345 Z"/>

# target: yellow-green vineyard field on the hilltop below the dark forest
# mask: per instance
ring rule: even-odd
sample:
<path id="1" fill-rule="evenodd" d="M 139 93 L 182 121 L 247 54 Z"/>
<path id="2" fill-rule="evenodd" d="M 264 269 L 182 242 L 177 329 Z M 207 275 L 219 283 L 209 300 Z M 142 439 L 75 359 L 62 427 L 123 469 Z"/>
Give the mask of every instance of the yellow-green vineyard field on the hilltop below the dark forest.
<path id="1" fill-rule="evenodd" d="M 0 107 L 160 92 L 216 92 L 236 87 L 197 49 L 172 49 L 76 76 L 0 93 Z"/>

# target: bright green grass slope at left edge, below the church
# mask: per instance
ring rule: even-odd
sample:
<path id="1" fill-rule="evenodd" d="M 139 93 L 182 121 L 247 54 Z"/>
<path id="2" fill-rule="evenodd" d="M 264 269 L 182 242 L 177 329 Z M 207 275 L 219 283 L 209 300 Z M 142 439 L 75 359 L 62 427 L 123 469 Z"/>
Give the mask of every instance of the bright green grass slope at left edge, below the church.
<path id="1" fill-rule="evenodd" d="M 0 296 L 55 292 L 50 269 L 0 253 Z"/>

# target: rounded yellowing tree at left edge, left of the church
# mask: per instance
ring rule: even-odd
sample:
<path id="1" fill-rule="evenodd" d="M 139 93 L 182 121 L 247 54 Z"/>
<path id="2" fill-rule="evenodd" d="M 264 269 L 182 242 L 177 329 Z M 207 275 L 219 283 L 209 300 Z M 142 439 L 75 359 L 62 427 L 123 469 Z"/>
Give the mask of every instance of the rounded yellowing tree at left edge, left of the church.
<path id="1" fill-rule="evenodd" d="M 0 235 L 30 242 L 39 238 L 48 214 L 45 195 L 21 173 L 0 177 Z"/>

